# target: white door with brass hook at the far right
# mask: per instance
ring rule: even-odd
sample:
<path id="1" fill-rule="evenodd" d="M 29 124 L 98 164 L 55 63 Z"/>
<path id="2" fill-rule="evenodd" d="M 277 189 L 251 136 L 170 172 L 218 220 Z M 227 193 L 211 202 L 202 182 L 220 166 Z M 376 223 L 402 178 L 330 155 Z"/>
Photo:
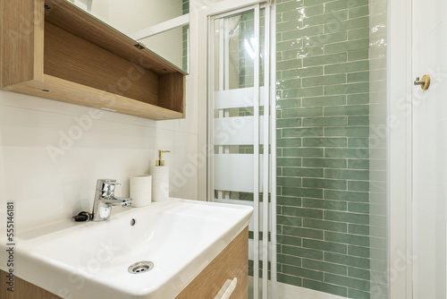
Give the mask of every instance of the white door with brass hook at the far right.
<path id="1" fill-rule="evenodd" d="M 413 298 L 446 297 L 446 1 L 413 1 Z M 410 82 L 409 82 L 410 83 Z"/>

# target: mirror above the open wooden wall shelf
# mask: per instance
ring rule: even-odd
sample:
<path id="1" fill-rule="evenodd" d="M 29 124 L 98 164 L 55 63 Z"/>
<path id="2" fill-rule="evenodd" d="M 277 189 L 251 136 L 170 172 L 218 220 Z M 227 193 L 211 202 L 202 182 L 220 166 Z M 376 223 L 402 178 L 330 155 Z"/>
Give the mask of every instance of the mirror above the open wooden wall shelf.
<path id="1" fill-rule="evenodd" d="M 164 28 L 179 23 L 173 19 L 190 13 L 189 0 L 70 1 L 188 72 L 190 26 L 184 24 L 165 31 Z M 163 32 L 146 37 L 148 32 L 160 31 Z"/>

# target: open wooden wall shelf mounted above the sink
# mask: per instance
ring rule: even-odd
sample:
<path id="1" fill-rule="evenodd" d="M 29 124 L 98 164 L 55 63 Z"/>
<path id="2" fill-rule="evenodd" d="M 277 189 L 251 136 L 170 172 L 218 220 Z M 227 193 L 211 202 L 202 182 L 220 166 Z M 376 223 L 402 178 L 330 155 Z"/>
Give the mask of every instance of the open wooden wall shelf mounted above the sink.
<path id="1" fill-rule="evenodd" d="M 185 117 L 185 76 L 66 0 L 0 0 L 0 88 L 126 115 Z"/>

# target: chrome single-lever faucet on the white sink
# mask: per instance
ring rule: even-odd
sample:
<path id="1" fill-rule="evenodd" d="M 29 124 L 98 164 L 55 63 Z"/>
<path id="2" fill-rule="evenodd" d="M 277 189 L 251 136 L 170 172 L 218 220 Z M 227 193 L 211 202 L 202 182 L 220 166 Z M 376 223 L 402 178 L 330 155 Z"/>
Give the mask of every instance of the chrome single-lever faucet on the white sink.
<path id="1" fill-rule="evenodd" d="M 122 206 L 124 208 L 131 206 L 131 198 L 114 196 L 114 187 L 117 185 L 120 184 L 116 183 L 116 180 L 97 180 L 97 191 L 95 192 L 95 201 L 93 201 L 93 211 L 91 212 L 93 221 L 105 221 L 110 218 L 112 206 Z"/>

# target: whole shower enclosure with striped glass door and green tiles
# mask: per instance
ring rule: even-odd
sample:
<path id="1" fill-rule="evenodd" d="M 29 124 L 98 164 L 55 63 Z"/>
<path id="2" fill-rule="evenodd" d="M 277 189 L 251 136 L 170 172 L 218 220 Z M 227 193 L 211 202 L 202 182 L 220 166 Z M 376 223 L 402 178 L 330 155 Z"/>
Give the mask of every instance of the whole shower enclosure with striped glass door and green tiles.
<path id="1" fill-rule="evenodd" d="M 250 298 L 387 298 L 386 1 L 237 6 L 208 16 L 207 199 L 255 209 Z"/>

